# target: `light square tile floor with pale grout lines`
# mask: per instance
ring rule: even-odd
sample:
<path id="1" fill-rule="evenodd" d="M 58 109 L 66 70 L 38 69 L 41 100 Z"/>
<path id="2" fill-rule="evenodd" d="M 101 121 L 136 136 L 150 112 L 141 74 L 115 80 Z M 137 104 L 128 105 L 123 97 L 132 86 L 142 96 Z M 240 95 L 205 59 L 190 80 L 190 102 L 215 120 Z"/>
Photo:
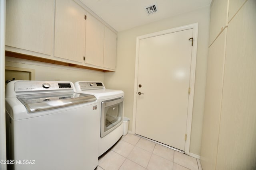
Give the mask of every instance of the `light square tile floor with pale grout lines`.
<path id="1" fill-rule="evenodd" d="M 96 170 L 202 170 L 202 166 L 199 159 L 128 133 L 100 157 Z"/>

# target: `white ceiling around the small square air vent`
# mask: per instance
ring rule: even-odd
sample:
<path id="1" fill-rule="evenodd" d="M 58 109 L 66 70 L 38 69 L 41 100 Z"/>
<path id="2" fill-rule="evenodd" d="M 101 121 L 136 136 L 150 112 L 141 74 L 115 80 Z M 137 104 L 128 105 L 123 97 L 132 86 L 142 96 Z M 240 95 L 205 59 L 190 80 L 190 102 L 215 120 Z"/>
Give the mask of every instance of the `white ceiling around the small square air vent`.
<path id="1" fill-rule="evenodd" d="M 212 0 L 80 0 L 116 31 L 169 18 L 210 5 Z M 156 4 L 149 15 L 145 7 Z"/>

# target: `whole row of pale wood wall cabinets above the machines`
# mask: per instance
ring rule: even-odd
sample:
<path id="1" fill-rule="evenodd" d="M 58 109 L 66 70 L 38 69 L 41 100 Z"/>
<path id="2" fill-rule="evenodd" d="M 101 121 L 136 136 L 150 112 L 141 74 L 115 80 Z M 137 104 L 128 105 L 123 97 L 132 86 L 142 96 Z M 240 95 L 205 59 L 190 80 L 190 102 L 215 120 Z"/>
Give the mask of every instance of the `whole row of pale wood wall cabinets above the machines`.
<path id="1" fill-rule="evenodd" d="M 85 9 L 78 0 L 6 0 L 8 55 L 114 71 L 117 35 Z"/>

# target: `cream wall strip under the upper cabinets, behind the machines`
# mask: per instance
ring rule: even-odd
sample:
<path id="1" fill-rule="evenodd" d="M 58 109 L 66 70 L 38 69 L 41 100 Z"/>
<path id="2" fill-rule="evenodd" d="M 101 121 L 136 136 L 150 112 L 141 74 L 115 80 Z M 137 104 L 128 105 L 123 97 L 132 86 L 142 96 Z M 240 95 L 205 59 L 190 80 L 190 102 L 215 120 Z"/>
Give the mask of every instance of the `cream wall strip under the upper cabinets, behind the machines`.
<path id="1" fill-rule="evenodd" d="M 104 72 L 6 57 L 6 66 L 35 69 L 35 80 L 104 81 Z"/>

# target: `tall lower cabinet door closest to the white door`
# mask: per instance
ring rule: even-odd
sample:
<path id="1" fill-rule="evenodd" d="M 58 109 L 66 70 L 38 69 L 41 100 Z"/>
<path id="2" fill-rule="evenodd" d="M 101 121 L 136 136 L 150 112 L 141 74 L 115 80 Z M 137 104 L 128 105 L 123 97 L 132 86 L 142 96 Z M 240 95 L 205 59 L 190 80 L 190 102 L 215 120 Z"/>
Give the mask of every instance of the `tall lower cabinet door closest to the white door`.
<path id="1" fill-rule="evenodd" d="M 208 51 L 204 121 L 200 155 L 202 167 L 206 170 L 215 170 L 217 158 L 226 33 L 227 29 L 220 34 Z"/>

